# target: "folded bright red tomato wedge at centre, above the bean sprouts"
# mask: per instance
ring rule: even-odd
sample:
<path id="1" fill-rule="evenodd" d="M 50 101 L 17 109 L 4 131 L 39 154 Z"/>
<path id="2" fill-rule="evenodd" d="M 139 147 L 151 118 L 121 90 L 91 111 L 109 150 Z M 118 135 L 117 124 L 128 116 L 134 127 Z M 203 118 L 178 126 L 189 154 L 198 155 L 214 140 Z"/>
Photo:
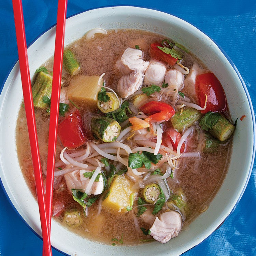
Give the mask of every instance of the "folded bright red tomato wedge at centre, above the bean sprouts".
<path id="1" fill-rule="evenodd" d="M 174 114 L 173 107 L 164 102 L 150 101 L 140 107 L 140 110 L 147 115 L 151 122 L 162 123 L 168 121 Z"/>

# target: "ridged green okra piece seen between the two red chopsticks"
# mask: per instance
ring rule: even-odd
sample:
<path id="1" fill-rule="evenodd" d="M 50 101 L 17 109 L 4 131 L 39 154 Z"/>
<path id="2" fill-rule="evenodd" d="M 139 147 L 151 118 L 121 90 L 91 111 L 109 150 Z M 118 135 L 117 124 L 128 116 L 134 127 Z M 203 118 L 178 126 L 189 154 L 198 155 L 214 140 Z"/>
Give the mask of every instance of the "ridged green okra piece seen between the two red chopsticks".
<path id="1" fill-rule="evenodd" d="M 52 95 L 52 83 L 53 77 L 49 74 L 46 74 L 43 71 L 40 71 L 35 79 L 35 82 L 32 86 L 32 96 L 34 106 L 47 109 L 47 103 L 44 103 L 43 97 L 47 96 L 51 98 Z"/>

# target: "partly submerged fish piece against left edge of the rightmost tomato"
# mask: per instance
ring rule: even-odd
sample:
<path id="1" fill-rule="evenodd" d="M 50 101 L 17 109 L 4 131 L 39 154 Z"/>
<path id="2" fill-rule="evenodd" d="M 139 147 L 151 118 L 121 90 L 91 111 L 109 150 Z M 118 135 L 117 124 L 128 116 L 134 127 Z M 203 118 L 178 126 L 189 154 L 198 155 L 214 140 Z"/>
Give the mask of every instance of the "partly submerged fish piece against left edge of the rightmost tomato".
<path id="1" fill-rule="evenodd" d="M 207 73 L 209 70 L 201 69 L 197 63 L 195 63 L 192 68 L 189 70 L 189 74 L 186 76 L 184 80 L 184 91 L 186 91 L 187 96 L 197 102 L 196 96 L 196 77 L 197 75 L 201 75 L 203 73 Z"/>

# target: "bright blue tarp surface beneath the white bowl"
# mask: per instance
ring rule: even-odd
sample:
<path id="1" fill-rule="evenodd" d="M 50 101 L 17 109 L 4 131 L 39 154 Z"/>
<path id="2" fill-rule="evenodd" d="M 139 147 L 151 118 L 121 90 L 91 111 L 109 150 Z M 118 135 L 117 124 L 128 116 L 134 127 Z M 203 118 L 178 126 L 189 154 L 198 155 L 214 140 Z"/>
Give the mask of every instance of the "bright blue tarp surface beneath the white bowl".
<path id="1" fill-rule="evenodd" d="M 135 5 L 164 11 L 200 28 L 232 59 L 256 109 L 255 0 L 69 0 L 67 16 L 106 5 Z M 56 23 L 57 0 L 23 0 L 27 43 Z M 0 0 L 0 86 L 18 58 L 11 0 Z M 243 153 L 241 152 L 241 157 Z M 190 255 L 256 255 L 256 164 L 234 212 Z M 42 241 L 17 215 L 0 187 L 0 255 L 41 255 Z M 54 256 L 61 256 L 53 250 Z M 150 255 L 150 253 L 149 253 Z"/>

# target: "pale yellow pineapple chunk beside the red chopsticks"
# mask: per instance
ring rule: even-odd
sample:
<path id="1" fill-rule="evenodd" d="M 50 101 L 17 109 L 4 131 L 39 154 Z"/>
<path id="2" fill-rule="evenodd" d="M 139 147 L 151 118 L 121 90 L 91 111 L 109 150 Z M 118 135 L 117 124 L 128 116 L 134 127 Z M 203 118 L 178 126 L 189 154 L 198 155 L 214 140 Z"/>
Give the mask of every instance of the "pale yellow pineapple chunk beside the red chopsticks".
<path id="1" fill-rule="evenodd" d="M 80 75 L 74 77 L 68 86 L 68 98 L 80 101 L 91 106 L 97 106 L 98 92 L 101 87 L 98 86 L 99 76 Z M 103 84 L 103 79 L 99 82 Z"/>

